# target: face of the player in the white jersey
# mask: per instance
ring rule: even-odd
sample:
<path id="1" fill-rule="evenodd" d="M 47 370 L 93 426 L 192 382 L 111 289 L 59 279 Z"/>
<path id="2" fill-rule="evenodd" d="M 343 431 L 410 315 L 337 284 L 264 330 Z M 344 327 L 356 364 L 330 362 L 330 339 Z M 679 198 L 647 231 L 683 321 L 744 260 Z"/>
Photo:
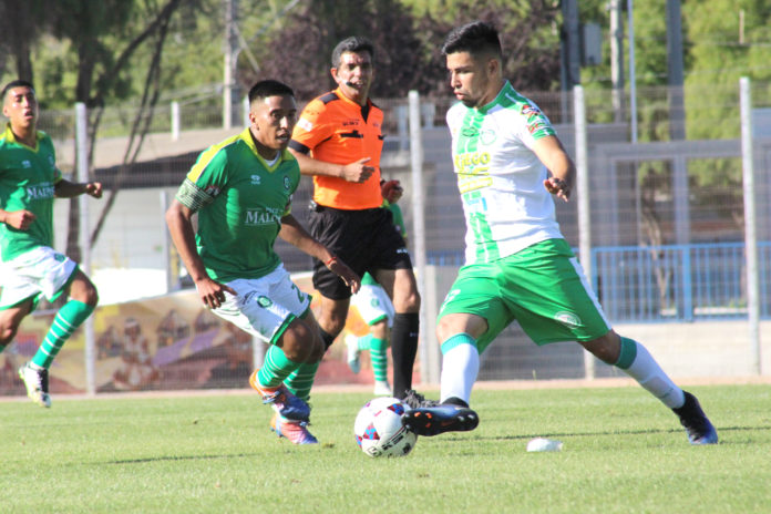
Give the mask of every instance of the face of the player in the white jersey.
<path id="1" fill-rule="evenodd" d="M 497 61 L 492 58 L 474 58 L 469 52 L 446 55 L 450 86 L 455 97 L 467 107 L 481 107 L 495 100 Z"/>

